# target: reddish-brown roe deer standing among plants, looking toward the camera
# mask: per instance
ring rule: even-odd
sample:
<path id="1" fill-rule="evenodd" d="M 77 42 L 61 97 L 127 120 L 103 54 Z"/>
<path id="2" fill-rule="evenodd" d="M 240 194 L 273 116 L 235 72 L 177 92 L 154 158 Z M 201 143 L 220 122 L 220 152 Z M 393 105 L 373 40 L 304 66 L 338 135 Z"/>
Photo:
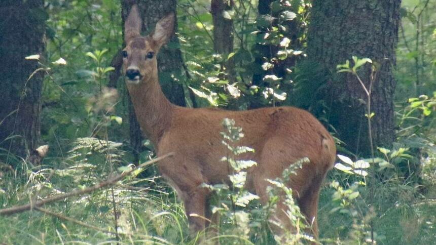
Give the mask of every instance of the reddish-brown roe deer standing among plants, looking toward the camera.
<path id="1" fill-rule="evenodd" d="M 171 104 L 159 85 L 156 55 L 172 35 L 174 18 L 166 16 L 151 34 L 141 36 L 138 8 L 132 7 L 125 22 L 123 70 L 143 134 L 158 156 L 174 153 L 161 160 L 158 169 L 184 201 L 191 231 L 204 230 L 208 225 L 204 217 L 211 216 L 207 207 L 211 193 L 202 183 L 229 183 L 229 166 L 220 161 L 228 149 L 219 132 L 223 119 L 233 118 L 245 135 L 239 143 L 256 150 L 251 159 L 258 165 L 247 170 L 245 188 L 259 195 L 262 203 L 268 201 L 270 183 L 265 179 L 281 177 L 289 165 L 309 158 L 287 184 L 317 237 L 319 189 L 336 156 L 332 136 L 309 112 L 294 107 L 228 111 Z M 284 209 L 277 205 L 274 216 L 292 229 Z"/>

